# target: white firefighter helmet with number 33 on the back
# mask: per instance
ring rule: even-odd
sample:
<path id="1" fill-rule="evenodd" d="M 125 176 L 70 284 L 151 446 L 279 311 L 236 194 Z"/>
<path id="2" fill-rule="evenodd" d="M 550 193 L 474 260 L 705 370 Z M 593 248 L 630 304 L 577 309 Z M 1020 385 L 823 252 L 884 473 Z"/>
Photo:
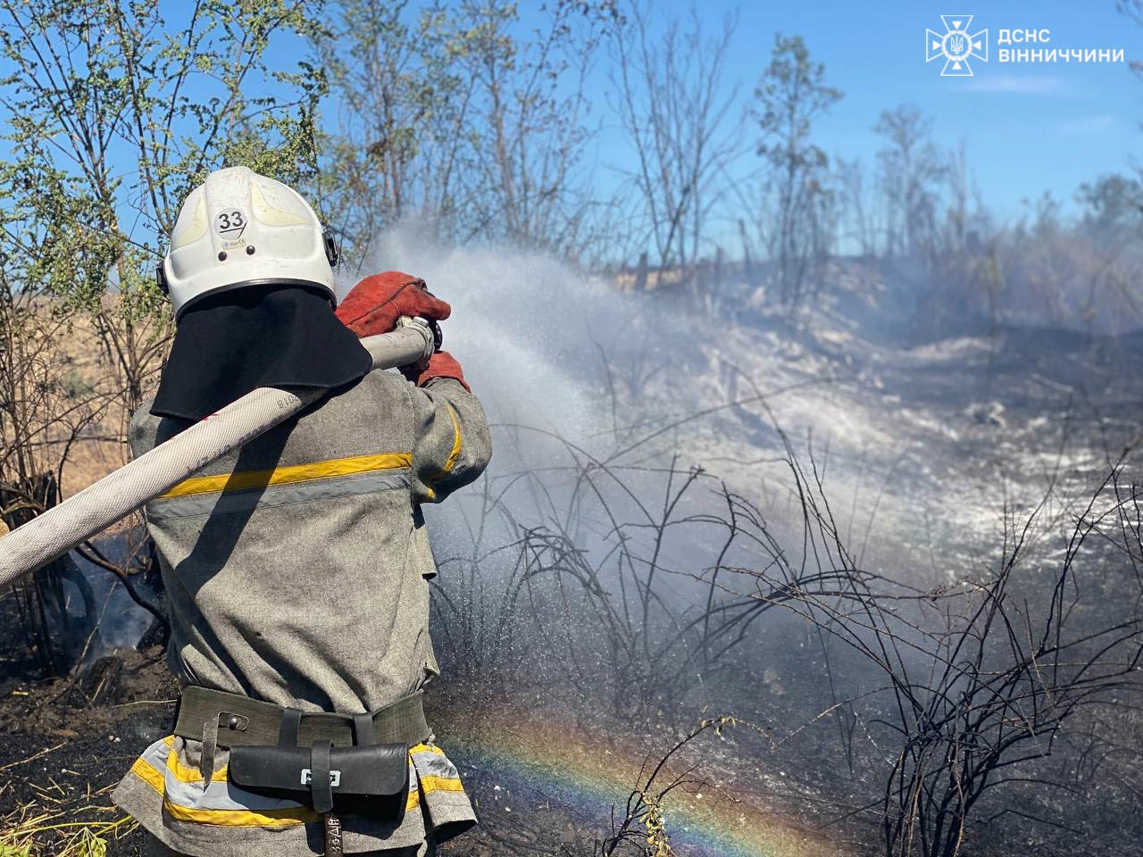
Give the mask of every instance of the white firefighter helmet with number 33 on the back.
<path id="1" fill-rule="evenodd" d="M 243 286 L 317 286 L 336 303 L 336 264 L 333 237 L 297 191 L 227 167 L 186 197 L 155 275 L 177 320 L 200 297 Z"/>

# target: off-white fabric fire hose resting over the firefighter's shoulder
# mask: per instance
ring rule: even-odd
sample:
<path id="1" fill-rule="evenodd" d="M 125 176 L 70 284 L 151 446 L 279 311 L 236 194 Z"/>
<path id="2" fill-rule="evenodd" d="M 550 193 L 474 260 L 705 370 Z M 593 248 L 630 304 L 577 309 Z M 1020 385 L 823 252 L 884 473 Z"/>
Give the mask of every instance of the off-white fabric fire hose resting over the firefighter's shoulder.
<path id="1" fill-rule="evenodd" d="M 391 334 L 361 339 L 374 369 L 415 363 L 439 346 L 429 325 L 401 322 Z M 0 538 L 0 586 L 58 559 L 327 392 L 258 387 L 17 527 Z"/>

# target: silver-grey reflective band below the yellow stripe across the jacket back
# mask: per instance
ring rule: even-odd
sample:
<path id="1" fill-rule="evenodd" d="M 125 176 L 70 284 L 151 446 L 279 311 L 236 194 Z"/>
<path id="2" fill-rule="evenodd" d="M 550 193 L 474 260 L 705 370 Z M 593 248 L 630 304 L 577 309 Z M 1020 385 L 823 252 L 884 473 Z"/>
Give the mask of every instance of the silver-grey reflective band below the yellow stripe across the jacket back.
<path id="1" fill-rule="evenodd" d="M 307 482 L 254 488 L 245 491 L 215 491 L 205 495 L 167 497 L 152 500 L 146 506 L 147 516 L 153 521 L 174 518 L 197 518 L 209 514 L 230 514 L 262 506 L 282 506 L 289 503 L 306 503 L 351 495 L 374 494 L 390 489 L 409 490 L 409 470 L 391 470 L 384 473 L 367 473 L 333 479 L 315 479 Z"/>

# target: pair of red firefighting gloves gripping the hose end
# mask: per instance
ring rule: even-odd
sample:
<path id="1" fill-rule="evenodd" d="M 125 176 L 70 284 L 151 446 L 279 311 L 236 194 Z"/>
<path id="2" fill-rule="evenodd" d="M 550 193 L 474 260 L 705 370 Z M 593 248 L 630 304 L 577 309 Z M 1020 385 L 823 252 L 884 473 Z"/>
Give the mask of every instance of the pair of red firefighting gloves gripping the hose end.
<path id="1" fill-rule="evenodd" d="M 363 338 L 393 330 L 401 315 L 443 321 L 453 309 L 434 297 L 419 277 L 386 271 L 361 280 L 338 304 L 336 312 L 345 327 L 358 338 Z M 401 374 L 418 387 L 433 378 L 455 378 L 472 392 L 464 381 L 461 365 L 447 351 L 438 351 L 427 360 L 401 367 Z"/>

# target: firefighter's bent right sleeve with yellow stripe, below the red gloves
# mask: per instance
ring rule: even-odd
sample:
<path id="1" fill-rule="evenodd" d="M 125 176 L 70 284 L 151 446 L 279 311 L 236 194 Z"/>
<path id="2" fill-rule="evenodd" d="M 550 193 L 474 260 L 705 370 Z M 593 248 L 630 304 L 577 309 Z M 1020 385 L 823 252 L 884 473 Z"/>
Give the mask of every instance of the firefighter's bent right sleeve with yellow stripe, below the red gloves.
<path id="1" fill-rule="evenodd" d="M 434 354 L 432 362 L 447 354 Z M 448 358 L 451 360 L 451 358 Z M 455 363 L 455 361 L 453 361 Z M 459 367 L 456 367 L 459 369 Z M 485 410 L 459 373 L 421 374 L 410 389 L 416 439 L 413 447 L 413 500 L 440 503 L 479 476 L 491 457 Z"/>

